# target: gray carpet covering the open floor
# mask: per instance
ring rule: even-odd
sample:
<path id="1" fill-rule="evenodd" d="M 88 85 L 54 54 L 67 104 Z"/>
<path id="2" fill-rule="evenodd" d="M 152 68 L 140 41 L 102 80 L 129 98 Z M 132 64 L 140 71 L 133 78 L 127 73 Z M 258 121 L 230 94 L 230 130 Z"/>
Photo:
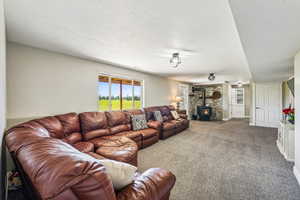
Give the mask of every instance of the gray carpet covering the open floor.
<path id="1" fill-rule="evenodd" d="M 293 163 L 275 141 L 277 130 L 247 121 L 193 121 L 191 128 L 139 151 L 139 169 L 172 171 L 172 200 L 299 200 Z"/>

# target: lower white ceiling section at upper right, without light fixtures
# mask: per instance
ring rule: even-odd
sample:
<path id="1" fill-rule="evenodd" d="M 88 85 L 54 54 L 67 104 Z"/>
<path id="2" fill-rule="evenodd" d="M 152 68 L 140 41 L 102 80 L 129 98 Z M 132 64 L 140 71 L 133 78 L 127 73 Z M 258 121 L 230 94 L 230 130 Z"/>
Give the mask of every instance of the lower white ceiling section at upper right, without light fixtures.
<path id="1" fill-rule="evenodd" d="M 230 4 L 253 79 L 291 76 L 300 50 L 300 1 L 230 0 Z"/>

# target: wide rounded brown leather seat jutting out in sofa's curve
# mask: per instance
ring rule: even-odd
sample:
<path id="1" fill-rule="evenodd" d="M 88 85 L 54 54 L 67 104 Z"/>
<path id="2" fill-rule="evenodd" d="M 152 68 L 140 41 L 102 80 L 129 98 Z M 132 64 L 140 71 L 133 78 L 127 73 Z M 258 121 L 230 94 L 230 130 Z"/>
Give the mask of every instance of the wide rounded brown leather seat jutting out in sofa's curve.
<path id="1" fill-rule="evenodd" d="M 106 142 L 98 147 L 96 153 L 108 159 L 137 166 L 138 146 L 133 140 L 127 137 L 106 140 Z"/>

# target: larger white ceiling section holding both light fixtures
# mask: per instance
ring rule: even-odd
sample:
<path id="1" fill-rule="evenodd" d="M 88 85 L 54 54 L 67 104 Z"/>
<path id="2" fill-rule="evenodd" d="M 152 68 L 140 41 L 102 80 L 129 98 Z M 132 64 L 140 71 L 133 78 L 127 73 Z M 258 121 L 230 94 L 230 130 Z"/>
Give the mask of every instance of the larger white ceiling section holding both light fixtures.
<path id="1" fill-rule="evenodd" d="M 251 78 L 227 0 L 6 0 L 8 40 L 187 82 Z M 182 65 L 169 64 L 179 51 Z"/>

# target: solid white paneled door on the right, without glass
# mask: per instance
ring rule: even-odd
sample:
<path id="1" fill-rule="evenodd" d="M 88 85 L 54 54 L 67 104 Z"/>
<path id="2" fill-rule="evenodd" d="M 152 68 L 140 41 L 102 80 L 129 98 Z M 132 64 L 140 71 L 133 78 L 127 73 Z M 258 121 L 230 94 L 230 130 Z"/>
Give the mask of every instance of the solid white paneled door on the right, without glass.
<path id="1" fill-rule="evenodd" d="M 281 118 L 281 86 L 278 83 L 256 84 L 255 125 L 279 127 Z"/>

